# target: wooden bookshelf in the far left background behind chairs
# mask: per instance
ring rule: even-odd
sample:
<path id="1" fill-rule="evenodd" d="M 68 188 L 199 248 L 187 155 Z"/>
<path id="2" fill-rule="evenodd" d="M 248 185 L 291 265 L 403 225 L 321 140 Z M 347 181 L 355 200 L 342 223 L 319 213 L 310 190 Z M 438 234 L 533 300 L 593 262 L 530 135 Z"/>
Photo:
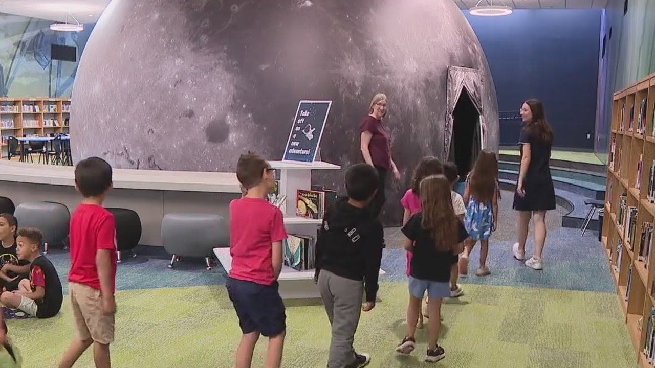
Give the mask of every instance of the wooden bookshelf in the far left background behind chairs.
<path id="1" fill-rule="evenodd" d="M 71 112 L 69 98 L 0 98 L 2 157 L 7 156 L 7 138 L 69 133 L 64 125 Z"/>

